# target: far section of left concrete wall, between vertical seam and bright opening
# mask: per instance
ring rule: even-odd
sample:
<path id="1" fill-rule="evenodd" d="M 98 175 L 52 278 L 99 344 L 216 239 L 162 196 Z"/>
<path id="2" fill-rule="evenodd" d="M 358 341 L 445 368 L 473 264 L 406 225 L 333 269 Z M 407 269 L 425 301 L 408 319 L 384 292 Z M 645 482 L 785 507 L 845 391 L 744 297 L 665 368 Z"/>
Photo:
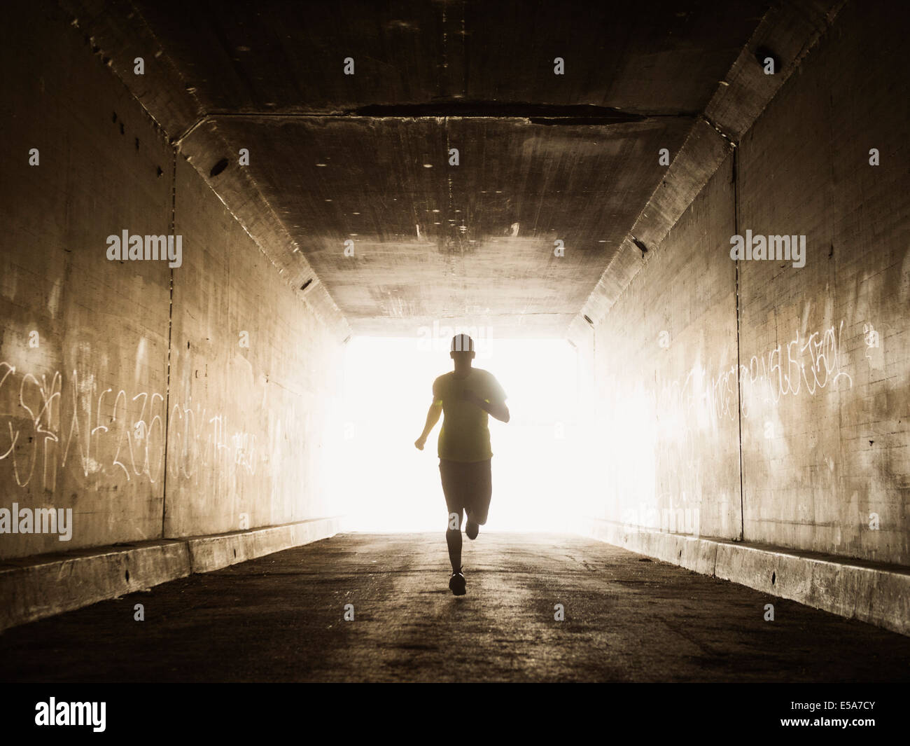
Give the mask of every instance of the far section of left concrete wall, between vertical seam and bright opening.
<path id="1" fill-rule="evenodd" d="M 340 341 L 182 158 L 177 233 L 165 536 L 329 515 Z"/>

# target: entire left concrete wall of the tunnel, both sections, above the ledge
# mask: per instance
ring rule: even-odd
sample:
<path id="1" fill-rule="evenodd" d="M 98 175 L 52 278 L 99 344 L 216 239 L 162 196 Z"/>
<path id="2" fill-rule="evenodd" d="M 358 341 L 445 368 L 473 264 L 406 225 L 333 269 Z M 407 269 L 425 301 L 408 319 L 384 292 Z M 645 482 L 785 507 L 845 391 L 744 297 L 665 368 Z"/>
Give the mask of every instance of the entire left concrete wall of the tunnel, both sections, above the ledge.
<path id="1" fill-rule="evenodd" d="M 329 515 L 337 332 L 90 39 L 10 13 L 29 34 L 0 64 L 34 75 L 0 102 L 0 507 L 72 508 L 73 533 L 0 534 L 0 557 Z M 182 235 L 182 265 L 108 261 L 122 230 Z"/>

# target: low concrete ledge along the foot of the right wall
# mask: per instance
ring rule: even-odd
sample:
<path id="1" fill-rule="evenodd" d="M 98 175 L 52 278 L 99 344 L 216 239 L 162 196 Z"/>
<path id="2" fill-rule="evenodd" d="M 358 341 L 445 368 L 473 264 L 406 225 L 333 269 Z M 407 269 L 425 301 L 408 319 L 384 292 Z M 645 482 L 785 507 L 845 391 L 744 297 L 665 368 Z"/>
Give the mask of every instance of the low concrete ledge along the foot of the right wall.
<path id="1" fill-rule="evenodd" d="M 910 635 L 910 567 L 671 534 L 603 518 L 588 517 L 585 524 L 590 537 L 607 544 Z"/>

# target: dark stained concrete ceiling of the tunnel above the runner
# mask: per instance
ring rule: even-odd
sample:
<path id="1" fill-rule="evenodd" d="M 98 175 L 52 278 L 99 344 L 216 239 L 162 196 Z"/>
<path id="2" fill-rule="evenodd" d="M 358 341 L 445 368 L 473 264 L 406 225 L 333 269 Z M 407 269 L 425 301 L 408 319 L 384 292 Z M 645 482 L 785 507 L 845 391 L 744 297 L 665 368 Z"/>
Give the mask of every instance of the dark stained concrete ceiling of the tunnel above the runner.
<path id="1" fill-rule="evenodd" d="M 528 337 L 565 335 L 661 186 L 659 149 L 682 147 L 768 5 L 122 10 L 183 84 L 147 108 L 228 208 L 270 208 L 354 332 Z M 255 195 L 227 187 L 240 178 Z"/>

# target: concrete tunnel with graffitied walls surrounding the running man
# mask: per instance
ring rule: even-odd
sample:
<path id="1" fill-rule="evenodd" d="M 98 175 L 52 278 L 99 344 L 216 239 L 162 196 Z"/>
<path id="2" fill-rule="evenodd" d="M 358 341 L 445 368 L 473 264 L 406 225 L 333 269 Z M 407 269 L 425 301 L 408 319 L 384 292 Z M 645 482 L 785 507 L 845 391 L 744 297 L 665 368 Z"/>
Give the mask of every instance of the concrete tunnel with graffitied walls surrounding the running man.
<path id="1" fill-rule="evenodd" d="M 6 10 L 4 680 L 910 680 L 906 5 Z"/>

